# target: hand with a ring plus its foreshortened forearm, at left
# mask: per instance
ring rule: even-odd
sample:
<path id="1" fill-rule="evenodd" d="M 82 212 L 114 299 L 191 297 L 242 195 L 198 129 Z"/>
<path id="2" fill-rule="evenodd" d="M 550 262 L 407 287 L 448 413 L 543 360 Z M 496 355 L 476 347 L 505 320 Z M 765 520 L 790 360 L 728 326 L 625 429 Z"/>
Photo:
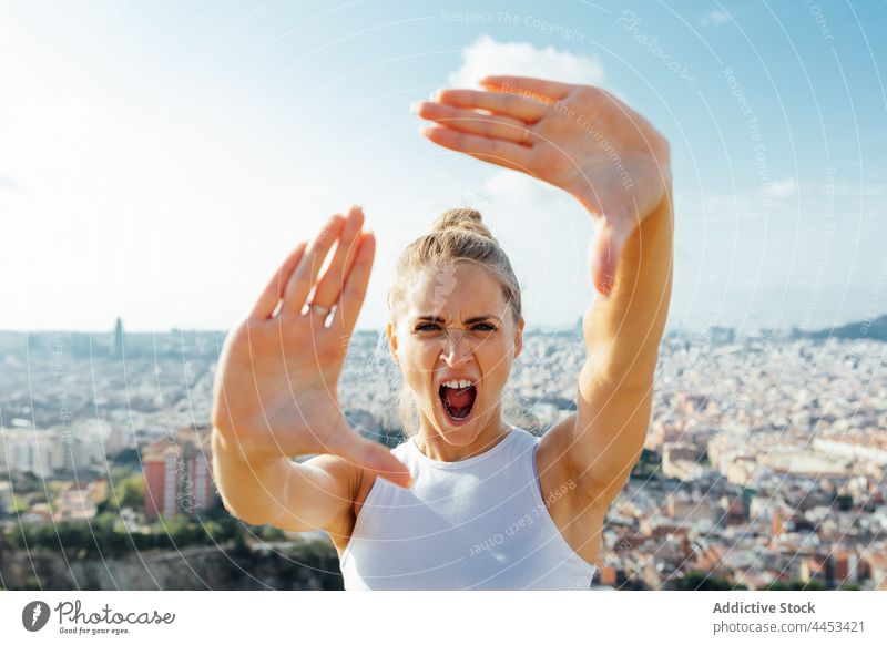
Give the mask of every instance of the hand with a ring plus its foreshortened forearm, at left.
<path id="1" fill-rule="evenodd" d="M 225 339 L 213 392 L 213 474 L 225 506 L 246 522 L 330 530 L 350 513 L 365 470 L 408 483 L 406 467 L 354 432 L 338 403 L 375 253 L 363 222 L 357 207 L 347 218 L 330 217 L 310 247 L 296 247 Z M 334 305 L 328 327 L 327 316 L 310 307 Z M 317 457 L 290 461 L 303 454 Z"/>

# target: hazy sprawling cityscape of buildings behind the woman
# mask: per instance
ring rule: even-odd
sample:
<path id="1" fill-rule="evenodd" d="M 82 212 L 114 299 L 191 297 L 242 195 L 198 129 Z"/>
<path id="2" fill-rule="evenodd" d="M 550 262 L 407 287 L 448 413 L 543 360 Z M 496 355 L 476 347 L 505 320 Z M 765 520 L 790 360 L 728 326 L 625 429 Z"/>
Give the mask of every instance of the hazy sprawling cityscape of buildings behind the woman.
<path id="1" fill-rule="evenodd" d="M 322 532 L 231 518 L 212 482 L 224 332 L 0 332 L 0 586 L 341 588 Z M 401 441 L 380 336 L 339 399 Z M 579 326 L 528 331 L 506 420 L 575 410 Z M 839 329 L 666 334 L 644 453 L 592 588 L 887 590 L 887 316 Z M 381 378 L 381 375 L 387 375 Z"/>

